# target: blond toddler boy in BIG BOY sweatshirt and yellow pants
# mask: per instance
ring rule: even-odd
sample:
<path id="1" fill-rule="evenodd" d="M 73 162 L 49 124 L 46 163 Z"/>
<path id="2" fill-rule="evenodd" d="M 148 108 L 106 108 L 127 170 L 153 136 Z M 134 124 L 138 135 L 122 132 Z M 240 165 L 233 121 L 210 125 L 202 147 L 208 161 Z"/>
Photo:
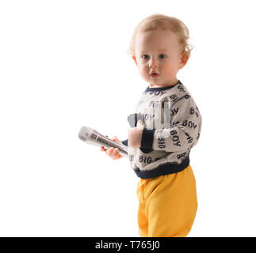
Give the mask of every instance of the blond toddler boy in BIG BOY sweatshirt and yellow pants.
<path id="1" fill-rule="evenodd" d="M 177 78 L 189 60 L 188 40 L 189 30 L 182 21 L 161 14 L 145 18 L 132 35 L 132 59 L 149 83 L 135 111 L 142 120 L 123 141 L 140 178 L 140 236 L 187 236 L 197 213 L 189 153 L 201 133 L 201 114 Z M 117 137 L 113 140 L 120 142 Z M 118 149 L 101 147 L 101 151 L 113 160 L 122 157 Z"/>

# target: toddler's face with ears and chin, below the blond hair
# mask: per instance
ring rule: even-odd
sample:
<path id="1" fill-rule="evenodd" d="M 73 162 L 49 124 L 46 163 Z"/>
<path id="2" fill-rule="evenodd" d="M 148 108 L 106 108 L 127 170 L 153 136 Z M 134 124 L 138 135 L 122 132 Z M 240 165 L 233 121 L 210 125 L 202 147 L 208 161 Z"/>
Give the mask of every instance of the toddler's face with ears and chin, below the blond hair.
<path id="1" fill-rule="evenodd" d="M 189 57 L 181 54 L 178 37 L 169 30 L 139 32 L 135 42 L 136 62 L 139 74 L 150 87 L 175 85 L 176 74 Z"/>

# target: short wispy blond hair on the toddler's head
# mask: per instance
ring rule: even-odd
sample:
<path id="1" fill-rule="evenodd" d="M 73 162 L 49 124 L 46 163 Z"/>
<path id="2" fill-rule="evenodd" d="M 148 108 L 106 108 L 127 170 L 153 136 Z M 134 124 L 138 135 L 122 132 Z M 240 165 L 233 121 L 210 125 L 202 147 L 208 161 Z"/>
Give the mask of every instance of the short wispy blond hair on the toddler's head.
<path id="1" fill-rule="evenodd" d="M 174 32 L 174 34 L 178 36 L 178 42 L 181 45 L 181 52 L 190 56 L 193 46 L 189 43 L 189 29 L 178 18 L 162 14 L 154 14 L 146 17 L 139 23 L 139 25 L 136 26 L 132 33 L 132 40 L 130 42 L 128 54 L 135 55 L 135 41 L 139 32 L 148 32 L 158 29 Z"/>

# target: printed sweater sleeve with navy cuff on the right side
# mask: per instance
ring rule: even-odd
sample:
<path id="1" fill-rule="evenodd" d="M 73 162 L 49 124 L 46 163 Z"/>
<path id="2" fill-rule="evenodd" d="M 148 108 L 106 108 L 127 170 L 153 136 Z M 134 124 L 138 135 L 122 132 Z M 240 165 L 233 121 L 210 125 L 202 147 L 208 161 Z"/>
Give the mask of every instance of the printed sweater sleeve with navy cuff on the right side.
<path id="1" fill-rule="evenodd" d="M 201 114 L 189 95 L 183 100 L 162 110 L 161 114 L 169 114 L 170 124 L 166 128 L 143 129 L 141 148 L 163 150 L 166 152 L 184 152 L 197 144 L 201 133 Z M 161 119 L 164 115 L 161 115 Z"/>

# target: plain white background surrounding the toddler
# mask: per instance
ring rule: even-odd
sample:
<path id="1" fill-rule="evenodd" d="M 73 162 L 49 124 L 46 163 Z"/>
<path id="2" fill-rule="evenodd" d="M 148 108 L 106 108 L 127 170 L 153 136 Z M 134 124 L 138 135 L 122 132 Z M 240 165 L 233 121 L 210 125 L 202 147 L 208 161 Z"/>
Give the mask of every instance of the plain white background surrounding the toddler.
<path id="1" fill-rule="evenodd" d="M 256 236 L 254 1 L 1 1 L 0 236 L 139 236 L 126 158 L 78 139 L 127 138 L 147 83 L 126 54 L 144 17 L 188 26 L 178 78 L 203 117 L 189 236 Z"/>

